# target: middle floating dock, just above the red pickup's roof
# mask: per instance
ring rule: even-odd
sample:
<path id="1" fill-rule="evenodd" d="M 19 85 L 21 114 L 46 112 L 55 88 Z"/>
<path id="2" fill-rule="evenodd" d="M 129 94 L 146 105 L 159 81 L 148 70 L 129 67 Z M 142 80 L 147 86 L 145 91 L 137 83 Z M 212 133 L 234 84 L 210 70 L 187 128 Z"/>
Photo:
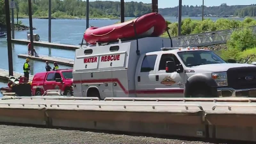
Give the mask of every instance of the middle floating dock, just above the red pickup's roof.
<path id="1" fill-rule="evenodd" d="M 72 59 L 66 59 L 66 58 L 60 58 L 60 57 L 49 57 L 47 55 L 39 55 L 39 57 L 35 56 L 29 56 L 28 54 L 18 54 L 18 57 L 20 58 L 28 58 L 31 60 L 39 60 L 39 61 L 48 61 L 48 62 L 57 62 L 59 64 L 73 66 L 74 60 Z"/>

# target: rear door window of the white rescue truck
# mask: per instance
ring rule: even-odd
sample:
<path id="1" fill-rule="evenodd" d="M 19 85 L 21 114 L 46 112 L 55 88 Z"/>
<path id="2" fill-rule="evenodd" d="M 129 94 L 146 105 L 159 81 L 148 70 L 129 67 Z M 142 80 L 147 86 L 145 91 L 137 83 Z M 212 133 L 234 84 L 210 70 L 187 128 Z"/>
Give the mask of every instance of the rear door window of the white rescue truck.
<path id="1" fill-rule="evenodd" d="M 142 61 L 140 72 L 149 72 L 154 70 L 157 55 L 146 55 Z"/>

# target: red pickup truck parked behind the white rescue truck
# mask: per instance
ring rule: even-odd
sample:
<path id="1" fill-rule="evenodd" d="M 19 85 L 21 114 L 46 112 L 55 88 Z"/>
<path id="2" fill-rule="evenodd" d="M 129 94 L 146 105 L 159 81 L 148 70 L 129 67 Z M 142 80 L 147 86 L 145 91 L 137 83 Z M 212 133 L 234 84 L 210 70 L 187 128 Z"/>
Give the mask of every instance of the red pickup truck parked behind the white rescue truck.
<path id="1" fill-rule="evenodd" d="M 73 95 L 72 69 L 37 73 L 32 80 L 32 95 L 43 95 L 46 90 L 60 89 L 64 95 Z"/>

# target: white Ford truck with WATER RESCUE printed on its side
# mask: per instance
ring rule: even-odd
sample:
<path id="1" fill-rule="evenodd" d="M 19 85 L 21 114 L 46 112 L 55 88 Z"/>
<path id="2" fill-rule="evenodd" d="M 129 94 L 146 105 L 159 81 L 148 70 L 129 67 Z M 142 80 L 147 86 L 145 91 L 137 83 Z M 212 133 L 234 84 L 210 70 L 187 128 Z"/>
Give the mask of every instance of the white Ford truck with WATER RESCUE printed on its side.
<path id="1" fill-rule="evenodd" d="M 255 96 L 256 66 L 226 63 L 214 52 L 170 47 L 146 37 L 76 50 L 74 95 L 80 97 Z"/>

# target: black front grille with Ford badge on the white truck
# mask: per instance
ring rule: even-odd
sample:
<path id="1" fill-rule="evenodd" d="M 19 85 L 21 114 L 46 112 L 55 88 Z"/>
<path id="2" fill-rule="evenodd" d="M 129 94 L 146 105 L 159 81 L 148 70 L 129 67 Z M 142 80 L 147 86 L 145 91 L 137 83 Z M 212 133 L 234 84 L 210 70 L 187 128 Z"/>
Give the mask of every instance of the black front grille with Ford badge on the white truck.
<path id="1" fill-rule="evenodd" d="M 233 89 L 256 88 L 256 67 L 229 68 L 227 76 L 228 87 Z"/>

